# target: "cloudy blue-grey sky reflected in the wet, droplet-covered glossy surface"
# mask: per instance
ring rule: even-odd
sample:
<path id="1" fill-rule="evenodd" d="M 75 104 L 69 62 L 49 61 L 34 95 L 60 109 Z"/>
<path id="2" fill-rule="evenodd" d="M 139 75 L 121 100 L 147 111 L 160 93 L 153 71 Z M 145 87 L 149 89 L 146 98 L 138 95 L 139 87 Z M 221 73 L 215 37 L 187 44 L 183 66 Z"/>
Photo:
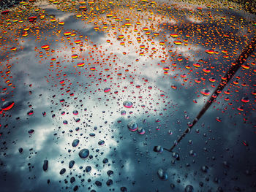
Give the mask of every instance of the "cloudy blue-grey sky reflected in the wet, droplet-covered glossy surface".
<path id="1" fill-rule="evenodd" d="M 159 31 L 155 31 L 159 33 L 159 37 L 153 39 L 153 32 L 149 35 L 155 42 L 152 45 L 144 39 L 141 43 L 137 42 L 138 34 L 134 32 L 134 25 L 127 31 L 126 28 L 118 31 L 120 28 L 118 25 L 116 29 L 111 29 L 109 26 L 109 33 L 94 31 L 94 21 L 85 25 L 84 21 L 74 18 L 72 14 L 60 12 L 45 5 L 42 7 L 48 15 L 54 14 L 56 18 L 65 22 L 58 36 L 53 32 L 61 29 L 60 26 L 57 30 L 44 28 L 39 32 L 42 33 L 41 42 L 34 41 L 35 37 L 29 34 L 29 37 L 18 40 L 20 46 L 23 46 L 23 51 L 18 48 L 16 53 L 12 53 L 10 61 L 1 56 L 1 70 L 6 72 L 6 65 L 12 65 L 10 69 L 12 78 L 9 75 L 7 79 L 15 85 L 15 88 L 8 86 L 4 78 L 0 84 L 1 88 L 7 87 L 7 91 L 1 91 L 1 98 L 15 101 L 15 107 L 6 112 L 5 117 L 1 117 L 0 121 L 3 191 L 63 191 L 62 188 L 66 187 L 67 191 L 71 191 L 70 188 L 75 188 L 75 185 L 79 186 L 80 191 L 92 189 L 106 191 L 106 188 L 119 191 L 121 186 L 127 187 L 128 191 L 157 191 L 157 189 L 170 191 L 171 183 L 175 185 L 173 191 L 184 191 L 186 185 L 193 185 L 195 191 L 220 191 L 221 188 L 224 191 L 234 191 L 237 188 L 251 191 L 255 189 L 253 179 L 255 176 L 253 150 L 255 147 L 255 112 L 253 112 L 255 97 L 251 94 L 255 79 L 255 72 L 252 71 L 255 66 L 250 65 L 249 70 L 241 69 L 236 74 L 241 77 L 239 85 L 241 86 L 242 82 L 246 82 L 247 85 L 238 88 L 231 85 L 233 82 L 231 80 L 230 85 L 225 88 L 225 90 L 230 89 L 228 96 L 230 101 L 224 100 L 225 94 L 220 95 L 217 102 L 213 104 L 214 107 L 211 107 L 200 119 L 192 133 L 188 134 L 176 147 L 176 151 L 181 156 L 180 161 L 175 161 L 170 153 L 157 154 L 152 150 L 155 145 L 170 147 L 173 144 L 173 141 L 187 127 L 187 123 L 195 118 L 206 102 L 207 97 L 202 96 L 200 90 L 203 88 L 214 90 L 211 87 L 213 83 L 210 83 L 208 78 L 214 77 L 217 80 L 214 84 L 217 85 L 220 75 L 224 74 L 222 71 L 227 70 L 230 62 L 237 57 L 238 54 L 232 54 L 235 47 L 228 45 L 234 45 L 235 42 L 225 39 L 221 34 L 231 34 L 230 32 L 233 31 L 233 36 L 239 39 L 239 43 L 243 42 L 241 46 L 236 45 L 237 52 L 240 53 L 245 45 L 246 38 L 242 37 L 244 31 L 249 29 L 252 31 L 247 34 L 247 39 L 251 39 L 255 32 L 252 23 L 248 22 L 252 18 L 243 15 L 246 18 L 243 21 L 243 29 L 228 28 L 225 31 L 224 28 L 219 28 L 220 24 L 217 20 L 212 20 L 210 25 L 207 20 L 199 22 L 195 17 L 197 14 L 189 18 L 187 10 L 185 10 L 187 12 L 185 16 L 180 10 L 171 9 L 176 20 L 162 18 L 159 13 L 156 21 L 151 21 L 155 28 L 162 27 L 157 28 Z M 193 10 L 197 12 L 196 9 Z M 134 12 L 135 10 L 130 11 L 130 13 Z M 138 14 L 150 15 L 149 12 L 150 10 Z M 212 9 L 211 14 L 214 15 L 216 12 Z M 226 9 L 219 10 L 216 15 L 225 15 L 226 12 L 232 13 L 233 22 L 238 22 L 241 18 L 240 12 Z M 121 13 L 118 16 L 121 17 Z M 101 17 L 105 18 L 105 15 Z M 151 24 L 148 24 L 149 21 L 146 18 L 140 18 L 142 24 L 138 26 L 138 32 L 148 39 L 145 32 L 140 31 L 144 26 Z M 169 20 L 170 23 L 167 26 L 170 26 L 170 30 L 164 25 Z M 135 20 L 132 22 L 134 23 Z M 174 28 L 174 25 L 177 28 Z M 193 37 L 184 37 L 187 33 L 192 36 L 189 30 L 193 25 L 198 25 L 198 28 L 208 33 L 214 28 L 219 28 L 221 34 L 217 34 L 218 31 L 214 32 L 213 37 L 217 37 L 214 42 L 206 40 L 211 35 L 202 38 L 199 32 L 195 32 Z M 208 28 L 209 25 L 214 26 L 213 29 Z M 82 52 L 79 50 L 79 45 L 75 43 L 70 45 L 63 35 L 64 31 L 72 30 L 77 31 L 77 35 L 71 37 L 70 42 L 73 42 L 73 39 L 79 39 L 80 34 L 83 35 L 82 40 L 86 36 L 89 39 L 88 42 L 83 40 Z M 113 34 L 114 31 L 116 34 Z M 178 31 L 182 31 L 182 35 Z M 161 46 L 159 42 L 165 39 L 163 37 L 165 33 L 167 42 L 165 46 Z M 189 45 L 184 46 L 184 43 L 181 46 L 174 45 L 175 39 L 169 36 L 171 33 L 178 33 L 181 41 L 188 39 Z M 123 40 L 117 40 L 119 34 L 124 34 L 125 46 L 120 45 Z M 130 35 L 129 39 L 128 35 Z M 61 42 L 59 37 L 64 37 L 64 42 Z M 56 42 L 56 39 L 59 39 L 59 42 Z M 110 43 L 107 42 L 108 39 Z M 128 40 L 131 40 L 132 44 L 129 45 Z M 7 50 L 15 46 L 13 42 L 9 40 L 8 42 L 10 45 Z M 229 58 L 230 61 L 223 58 L 224 54 L 221 50 L 224 48 L 220 46 L 221 42 L 227 43 L 225 46 L 230 49 L 229 55 L 233 55 L 233 58 Z M 54 49 L 55 53 L 49 53 L 48 56 L 45 50 L 40 48 L 45 44 L 49 44 L 50 50 Z M 142 44 L 148 46 L 148 53 L 146 50 L 140 50 L 139 46 Z M 34 50 L 34 47 L 39 48 Z M 72 47 L 75 49 L 72 50 Z M 153 47 L 157 50 L 154 54 L 151 51 Z M 205 53 L 206 49 L 212 47 L 216 47 L 219 51 L 218 55 Z M 162 50 L 162 48 L 165 49 Z M 169 49 L 173 52 L 168 53 Z M 39 53 L 41 50 L 42 54 Z M 163 53 L 164 51 L 166 53 Z M 175 51 L 176 57 L 172 57 Z M 4 52 L 7 51 L 4 50 Z M 140 52 L 146 54 L 139 55 Z M 79 58 L 75 58 L 72 62 L 71 55 L 75 53 Z M 153 58 L 148 58 L 149 54 L 153 54 Z M 177 56 L 178 54 L 181 56 Z M 39 55 L 43 55 L 42 58 Z M 56 58 L 56 61 L 50 61 L 51 58 Z M 165 58 L 165 64 L 162 64 L 161 60 Z M 170 61 L 170 58 L 173 61 Z M 177 61 L 177 58 L 183 58 L 183 60 Z M 139 60 L 136 61 L 136 59 Z M 200 62 L 202 66 L 195 69 L 193 64 L 199 59 L 206 62 Z M 60 64 L 57 64 L 58 61 Z M 81 61 L 86 65 L 80 68 L 74 67 Z M 53 62 L 53 67 L 50 67 L 50 62 Z M 252 62 L 255 62 L 255 58 L 251 57 L 248 63 Z M 173 63 L 176 63 L 176 66 L 173 66 Z M 184 67 L 185 65 L 191 66 L 193 70 L 190 72 Z M 95 66 L 96 70 L 91 71 L 91 66 Z M 164 74 L 164 66 L 170 68 L 168 74 Z M 206 66 L 214 66 L 214 69 L 204 76 L 202 69 Z M 120 72 L 121 76 L 118 76 Z M 187 82 L 184 82 L 181 74 L 187 74 Z M 206 77 L 205 83 L 195 83 L 194 79 L 202 76 Z M 61 86 L 61 80 L 65 80 L 64 86 Z M 174 90 L 171 85 L 176 85 L 177 89 Z M 148 89 L 148 86 L 152 86 L 152 89 Z M 110 88 L 110 93 L 104 93 L 104 88 Z M 69 95 L 70 93 L 74 93 L 74 96 Z M 248 96 L 250 102 L 244 104 L 244 112 L 239 115 L 236 108 L 241 105 L 242 96 Z M 64 99 L 64 102 L 60 102 L 61 99 Z M 193 99 L 197 100 L 197 104 Z M 124 109 L 123 101 L 127 100 L 132 101 L 134 107 Z M 228 104 L 231 101 L 232 106 Z M 29 116 L 27 112 L 30 110 L 33 110 L 34 114 Z M 78 115 L 73 115 L 74 110 L 78 110 Z M 126 110 L 127 115 L 121 115 L 121 110 Z M 42 116 L 42 112 L 46 112 L 45 117 Z M 61 115 L 61 112 L 65 114 Z M 184 115 L 189 115 L 189 120 L 185 119 Z M 222 118 L 222 122 L 217 122 L 217 117 Z M 76 122 L 78 118 L 80 121 Z M 243 118 L 247 118 L 246 123 Z M 143 119 L 146 119 L 146 123 L 143 123 Z M 67 125 L 63 123 L 64 120 L 67 120 Z M 130 132 L 127 129 L 127 123 L 130 121 L 135 121 L 145 128 L 146 134 Z M 79 131 L 75 130 L 77 127 L 80 128 Z M 34 129 L 34 134 L 30 135 L 28 131 L 31 129 Z M 196 131 L 197 129 L 199 132 Z M 173 134 L 169 135 L 169 130 Z M 95 137 L 90 137 L 90 133 L 94 133 Z M 80 140 L 77 147 L 72 147 L 74 139 Z M 105 145 L 98 145 L 99 140 L 104 140 Z M 192 140 L 192 144 L 189 144 L 189 140 Z M 243 145 L 244 140 L 249 144 L 248 147 Z M 21 154 L 18 152 L 20 147 L 23 148 Z M 93 158 L 85 160 L 79 158 L 78 153 L 83 148 L 89 149 Z M 195 151 L 195 157 L 189 155 L 190 150 Z M 108 158 L 107 164 L 102 163 L 104 158 Z M 47 172 L 42 170 L 45 159 L 49 161 Z M 71 160 L 75 160 L 75 166 L 69 169 L 68 164 Z M 228 166 L 224 162 L 227 162 Z M 84 172 L 86 166 L 92 167 L 91 172 Z M 202 172 L 202 166 L 208 166 L 208 172 Z M 67 170 L 64 175 L 59 174 L 62 168 Z M 159 168 L 164 169 L 169 175 L 167 181 L 159 180 L 157 176 Z M 113 170 L 113 176 L 108 177 L 108 170 Z M 69 182 L 70 177 L 75 177 L 75 183 Z M 112 186 L 106 185 L 109 179 L 113 180 Z M 47 183 L 48 180 L 50 184 Z M 67 183 L 65 183 L 66 180 Z M 101 188 L 94 184 L 97 180 L 102 182 Z M 200 182 L 203 186 L 200 186 Z"/>

